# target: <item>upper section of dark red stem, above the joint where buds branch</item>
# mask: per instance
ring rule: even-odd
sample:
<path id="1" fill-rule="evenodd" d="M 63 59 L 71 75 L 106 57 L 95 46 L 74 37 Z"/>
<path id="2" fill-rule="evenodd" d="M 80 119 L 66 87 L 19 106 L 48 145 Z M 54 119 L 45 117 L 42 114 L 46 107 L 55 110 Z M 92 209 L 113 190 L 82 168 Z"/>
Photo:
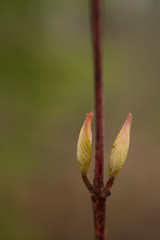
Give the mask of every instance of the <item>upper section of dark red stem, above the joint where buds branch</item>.
<path id="1" fill-rule="evenodd" d="M 97 192 L 103 188 L 103 153 L 104 153 L 104 116 L 102 82 L 102 44 L 101 44 L 101 4 L 102 0 L 92 0 L 95 110 L 96 110 L 96 149 L 94 187 Z"/>

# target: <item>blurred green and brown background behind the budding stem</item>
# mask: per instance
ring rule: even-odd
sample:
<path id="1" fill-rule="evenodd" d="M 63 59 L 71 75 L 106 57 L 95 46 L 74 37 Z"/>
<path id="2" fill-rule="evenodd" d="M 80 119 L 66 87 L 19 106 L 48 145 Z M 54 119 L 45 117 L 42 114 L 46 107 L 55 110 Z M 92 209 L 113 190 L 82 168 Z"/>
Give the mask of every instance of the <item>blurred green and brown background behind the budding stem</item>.
<path id="1" fill-rule="evenodd" d="M 107 203 L 109 240 L 160 239 L 160 2 L 103 3 L 105 181 L 112 143 L 133 114 Z M 76 163 L 94 109 L 90 1 L 2 1 L 0 29 L 0 239 L 93 239 Z M 91 179 L 93 168 L 94 159 Z"/>

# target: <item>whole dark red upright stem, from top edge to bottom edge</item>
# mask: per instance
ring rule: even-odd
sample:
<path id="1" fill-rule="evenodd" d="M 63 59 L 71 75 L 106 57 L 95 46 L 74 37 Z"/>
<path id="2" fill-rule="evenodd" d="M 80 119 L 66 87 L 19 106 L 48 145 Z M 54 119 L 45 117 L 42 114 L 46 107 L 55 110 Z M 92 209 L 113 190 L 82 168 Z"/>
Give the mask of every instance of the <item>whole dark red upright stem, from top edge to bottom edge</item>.
<path id="1" fill-rule="evenodd" d="M 103 79 L 102 79 L 102 40 L 101 40 L 101 4 L 102 0 L 92 0 L 92 27 L 94 49 L 94 80 L 95 80 L 95 112 L 96 112 L 96 143 L 95 143 L 95 172 L 94 191 L 92 196 L 95 239 L 106 239 L 105 202 L 100 196 L 103 191 L 103 157 L 104 157 L 104 113 L 103 113 Z"/>

